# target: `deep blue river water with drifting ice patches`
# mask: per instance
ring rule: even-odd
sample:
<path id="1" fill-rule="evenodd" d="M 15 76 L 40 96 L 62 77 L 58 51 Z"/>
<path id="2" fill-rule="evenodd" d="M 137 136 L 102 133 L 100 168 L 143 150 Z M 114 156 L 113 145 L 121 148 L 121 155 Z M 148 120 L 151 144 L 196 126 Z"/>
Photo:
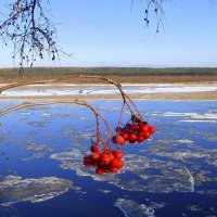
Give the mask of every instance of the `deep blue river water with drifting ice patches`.
<path id="1" fill-rule="evenodd" d="M 120 101 L 92 103 L 114 129 Z M 15 104 L 1 101 L 0 108 Z M 106 176 L 82 166 L 95 130 L 86 108 L 64 104 L 2 116 L 1 204 L 13 204 L 24 217 L 58 217 L 63 209 L 65 217 L 217 216 L 216 102 L 137 105 L 157 132 L 144 144 L 123 146 L 125 168 Z"/>

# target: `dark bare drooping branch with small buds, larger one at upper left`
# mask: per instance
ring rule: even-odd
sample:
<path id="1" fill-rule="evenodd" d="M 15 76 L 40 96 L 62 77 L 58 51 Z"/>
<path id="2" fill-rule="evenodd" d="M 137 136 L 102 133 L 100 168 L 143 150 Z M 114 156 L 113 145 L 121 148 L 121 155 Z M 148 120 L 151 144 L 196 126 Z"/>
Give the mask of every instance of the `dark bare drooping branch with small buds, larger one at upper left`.
<path id="1" fill-rule="evenodd" d="M 48 0 L 16 0 L 9 5 L 7 20 L 0 23 L 0 37 L 4 44 L 13 43 L 13 59 L 18 56 L 20 66 L 24 62 L 33 66 L 39 56 L 54 61 L 61 52 L 56 46 L 56 28 L 46 13 Z"/>

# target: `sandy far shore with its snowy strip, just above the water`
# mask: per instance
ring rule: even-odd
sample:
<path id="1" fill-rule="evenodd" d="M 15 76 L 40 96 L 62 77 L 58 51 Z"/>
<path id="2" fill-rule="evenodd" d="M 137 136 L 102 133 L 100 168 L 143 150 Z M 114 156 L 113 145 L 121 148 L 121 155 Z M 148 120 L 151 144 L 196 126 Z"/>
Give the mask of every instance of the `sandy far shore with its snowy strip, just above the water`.
<path id="1" fill-rule="evenodd" d="M 4 84 L 0 84 L 0 87 L 3 87 Z M 138 87 L 138 89 L 137 89 Z M 84 89 L 93 88 L 93 91 L 82 93 Z M 102 88 L 106 88 L 106 91 L 99 92 Z M 102 85 L 102 84 L 50 84 L 50 85 L 35 85 L 35 86 L 25 86 L 20 88 L 10 89 L 3 91 L 0 95 L 0 100 L 69 100 L 69 99 L 84 99 L 84 100 L 116 100 L 120 99 L 118 91 L 111 92 L 111 89 L 114 89 L 113 86 Z M 217 82 L 173 82 L 173 84 L 123 84 L 123 90 L 125 91 L 128 88 L 132 90 L 129 91 L 128 95 L 135 100 L 217 100 Z M 142 91 L 138 91 L 143 88 Z M 157 89 L 158 88 L 158 89 Z M 162 89 L 161 89 L 162 88 Z M 170 88 L 166 89 L 165 88 Z M 179 89 L 177 89 L 179 88 Z M 64 94 L 64 90 L 67 89 L 67 94 Z M 95 91 L 95 89 L 98 91 Z M 210 90 L 212 91 L 210 91 Z M 30 91 L 26 93 L 25 90 Z M 42 90 L 42 91 L 41 91 Z M 75 92 L 77 90 L 80 93 Z M 11 92 L 10 92 L 11 91 Z M 31 91 L 38 91 L 35 94 Z M 47 93 L 48 91 L 48 93 Z M 49 92 L 50 91 L 50 92 Z M 55 91 L 62 91 L 61 94 Z M 72 94 L 69 91 L 74 91 Z M 146 93 L 146 92 L 148 93 Z M 47 94 L 44 94 L 44 92 Z M 126 91 L 127 92 L 127 91 Z M 10 95 L 11 94 L 11 95 Z"/>

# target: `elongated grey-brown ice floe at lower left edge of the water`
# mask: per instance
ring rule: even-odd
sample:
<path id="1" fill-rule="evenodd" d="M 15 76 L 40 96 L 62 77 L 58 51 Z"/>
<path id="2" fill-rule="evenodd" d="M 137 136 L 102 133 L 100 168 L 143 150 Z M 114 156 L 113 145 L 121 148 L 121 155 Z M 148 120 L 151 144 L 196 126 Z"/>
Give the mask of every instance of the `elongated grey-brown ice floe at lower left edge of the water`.
<path id="1" fill-rule="evenodd" d="M 8 176 L 0 182 L 0 202 L 2 206 L 10 206 L 18 202 L 42 202 L 56 197 L 68 189 L 79 191 L 73 182 L 56 177 L 38 179 L 22 179 L 18 176 Z"/>

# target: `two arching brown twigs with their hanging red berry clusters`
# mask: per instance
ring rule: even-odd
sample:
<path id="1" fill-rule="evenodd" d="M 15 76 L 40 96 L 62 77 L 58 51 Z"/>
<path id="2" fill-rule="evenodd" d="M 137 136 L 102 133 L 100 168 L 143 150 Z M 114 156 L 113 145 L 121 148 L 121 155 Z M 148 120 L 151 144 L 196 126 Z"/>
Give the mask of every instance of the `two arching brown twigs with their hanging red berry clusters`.
<path id="1" fill-rule="evenodd" d="M 155 132 L 155 127 L 150 126 L 140 114 L 138 107 L 132 102 L 132 100 L 124 92 L 122 85 L 105 77 L 100 76 L 67 76 L 65 78 L 52 79 L 52 80 L 40 80 L 33 82 L 14 82 L 0 88 L 0 93 L 15 87 L 26 86 L 26 85 L 36 85 L 36 84 L 51 84 L 61 81 L 68 78 L 93 78 L 106 81 L 108 84 L 115 85 L 119 90 L 123 98 L 123 105 L 120 108 L 119 119 L 117 122 L 116 135 L 111 136 L 111 130 L 107 122 L 104 117 L 100 115 L 100 113 L 89 103 L 72 99 L 72 100 L 59 100 L 59 101 L 49 101 L 49 102 L 24 102 L 14 107 L 8 108 L 3 112 L 0 112 L 0 116 L 5 115 L 8 113 L 21 110 L 23 107 L 29 106 L 39 106 L 39 105 L 52 105 L 60 103 L 75 103 L 78 105 L 84 105 L 90 108 L 94 113 L 94 117 L 97 120 L 97 132 L 91 137 L 91 146 L 90 154 L 84 156 L 84 165 L 86 167 L 95 167 L 95 173 L 102 175 L 104 173 L 117 173 L 119 169 L 124 167 L 124 153 L 120 151 L 120 146 L 128 143 L 142 143 L 144 140 L 149 139 L 151 135 Z M 130 117 L 127 123 L 123 123 L 123 113 L 127 108 L 130 112 Z M 101 123 L 103 123 L 106 127 L 106 138 L 101 137 Z M 114 143 L 115 148 L 112 148 L 111 141 Z"/>

